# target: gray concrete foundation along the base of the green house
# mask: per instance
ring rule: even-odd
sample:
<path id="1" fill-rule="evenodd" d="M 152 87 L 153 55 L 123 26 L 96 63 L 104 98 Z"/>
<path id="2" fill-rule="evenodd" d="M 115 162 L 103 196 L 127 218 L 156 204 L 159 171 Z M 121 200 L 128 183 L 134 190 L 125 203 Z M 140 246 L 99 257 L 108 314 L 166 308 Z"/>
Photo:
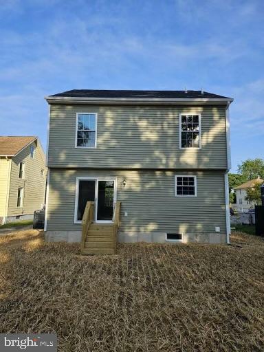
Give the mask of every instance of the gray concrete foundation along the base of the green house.
<path id="1" fill-rule="evenodd" d="M 82 237 L 81 231 L 46 231 L 45 241 L 49 242 L 80 242 Z M 166 241 L 166 232 L 151 232 L 151 233 L 123 233 L 118 234 L 118 242 L 122 243 L 137 243 L 137 242 L 148 242 L 148 243 L 173 243 Z M 226 243 L 226 235 L 219 234 L 217 232 L 210 234 L 184 234 L 182 241 L 175 243 L 211 243 L 221 244 Z"/>

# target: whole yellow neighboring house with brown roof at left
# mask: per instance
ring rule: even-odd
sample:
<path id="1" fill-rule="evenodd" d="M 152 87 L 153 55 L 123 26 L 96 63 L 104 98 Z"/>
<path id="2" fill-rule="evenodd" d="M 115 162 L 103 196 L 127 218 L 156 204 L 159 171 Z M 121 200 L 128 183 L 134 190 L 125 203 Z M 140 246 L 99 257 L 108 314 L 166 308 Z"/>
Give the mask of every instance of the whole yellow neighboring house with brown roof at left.
<path id="1" fill-rule="evenodd" d="M 37 137 L 0 136 L 0 224 L 33 218 L 45 203 L 46 174 Z"/>

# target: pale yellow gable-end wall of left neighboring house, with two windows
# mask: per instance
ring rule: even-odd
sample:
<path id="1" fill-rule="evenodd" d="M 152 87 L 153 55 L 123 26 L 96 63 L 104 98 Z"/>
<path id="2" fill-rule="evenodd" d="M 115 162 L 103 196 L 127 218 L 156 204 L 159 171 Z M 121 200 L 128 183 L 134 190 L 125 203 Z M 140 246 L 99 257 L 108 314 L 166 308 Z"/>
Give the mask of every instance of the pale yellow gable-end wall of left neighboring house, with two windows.
<path id="1" fill-rule="evenodd" d="M 36 146 L 34 158 L 30 156 L 30 145 L 12 158 L 10 197 L 8 203 L 8 217 L 33 214 L 45 202 L 45 155 L 41 147 Z M 25 162 L 25 178 L 19 178 L 19 164 Z M 23 207 L 17 207 L 17 194 L 19 187 L 24 188 Z"/>

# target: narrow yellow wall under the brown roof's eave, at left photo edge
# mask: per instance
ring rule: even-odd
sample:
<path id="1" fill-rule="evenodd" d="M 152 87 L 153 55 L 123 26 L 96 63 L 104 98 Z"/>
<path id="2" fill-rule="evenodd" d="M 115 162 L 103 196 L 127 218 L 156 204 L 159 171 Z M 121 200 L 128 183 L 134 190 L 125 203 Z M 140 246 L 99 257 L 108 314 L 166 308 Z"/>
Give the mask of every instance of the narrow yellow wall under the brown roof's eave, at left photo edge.
<path id="1" fill-rule="evenodd" d="M 11 160 L 0 157 L 0 223 L 6 216 L 10 185 Z"/>

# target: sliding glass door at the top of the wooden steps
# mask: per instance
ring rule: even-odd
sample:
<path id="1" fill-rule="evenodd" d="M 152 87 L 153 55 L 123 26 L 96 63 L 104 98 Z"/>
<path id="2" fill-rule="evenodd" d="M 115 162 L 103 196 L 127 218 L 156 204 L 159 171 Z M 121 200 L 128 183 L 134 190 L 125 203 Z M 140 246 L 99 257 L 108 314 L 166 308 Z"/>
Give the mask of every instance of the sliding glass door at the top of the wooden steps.
<path id="1" fill-rule="evenodd" d="M 83 219 L 87 201 L 94 201 L 94 220 L 113 221 L 115 179 L 78 179 L 77 221 Z"/>

